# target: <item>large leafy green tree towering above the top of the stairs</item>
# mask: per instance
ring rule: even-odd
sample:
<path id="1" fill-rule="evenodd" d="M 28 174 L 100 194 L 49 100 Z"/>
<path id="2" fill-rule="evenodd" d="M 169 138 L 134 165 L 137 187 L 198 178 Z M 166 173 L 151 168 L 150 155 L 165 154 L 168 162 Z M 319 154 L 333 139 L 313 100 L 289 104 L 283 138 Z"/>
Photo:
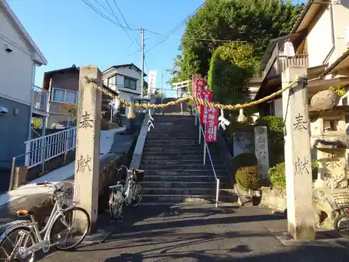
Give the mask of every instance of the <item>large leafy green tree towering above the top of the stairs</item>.
<path id="1" fill-rule="evenodd" d="M 290 0 L 207 0 L 188 20 L 181 40 L 182 54 L 174 60 L 177 69 L 173 77 L 186 80 L 195 73 L 206 76 L 212 53 L 225 43 L 214 39 L 251 43 L 253 54 L 260 60 L 272 38 L 291 31 L 303 7 L 303 3 L 293 5 Z"/>

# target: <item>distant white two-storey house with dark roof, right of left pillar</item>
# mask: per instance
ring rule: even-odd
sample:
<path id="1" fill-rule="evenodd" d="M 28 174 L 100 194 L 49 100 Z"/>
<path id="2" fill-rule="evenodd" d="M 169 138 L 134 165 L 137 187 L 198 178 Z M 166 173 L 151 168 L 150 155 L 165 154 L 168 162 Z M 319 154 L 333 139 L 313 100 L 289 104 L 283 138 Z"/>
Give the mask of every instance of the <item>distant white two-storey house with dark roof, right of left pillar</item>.
<path id="1" fill-rule="evenodd" d="M 107 87 L 119 93 L 121 99 L 133 101 L 142 95 L 142 71 L 134 64 L 120 64 L 111 66 L 103 71 L 103 82 Z M 128 115 L 128 108 L 116 99 L 112 102 L 113 114 L 119 113 L 122 117 Z"/>

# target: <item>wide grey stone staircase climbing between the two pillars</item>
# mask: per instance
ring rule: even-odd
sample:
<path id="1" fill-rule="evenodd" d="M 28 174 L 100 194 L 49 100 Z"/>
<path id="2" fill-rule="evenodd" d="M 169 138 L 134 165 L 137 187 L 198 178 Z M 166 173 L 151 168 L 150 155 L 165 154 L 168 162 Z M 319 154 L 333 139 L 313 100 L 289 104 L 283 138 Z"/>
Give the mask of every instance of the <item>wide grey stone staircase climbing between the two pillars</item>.
<path id="1" fill-rule="evenodd" d="M 145 170 L 142 205 L 214 202 L 216 179 L 209 157 L 203 165 L 204 143 L 198 144 L 195 117 L 155 115 L 154 126 L 147 134 L 140 166 Z M 209 143 L 209 150 L 221 180 L 219 201 L 237 201 L 218 145 Z"/>

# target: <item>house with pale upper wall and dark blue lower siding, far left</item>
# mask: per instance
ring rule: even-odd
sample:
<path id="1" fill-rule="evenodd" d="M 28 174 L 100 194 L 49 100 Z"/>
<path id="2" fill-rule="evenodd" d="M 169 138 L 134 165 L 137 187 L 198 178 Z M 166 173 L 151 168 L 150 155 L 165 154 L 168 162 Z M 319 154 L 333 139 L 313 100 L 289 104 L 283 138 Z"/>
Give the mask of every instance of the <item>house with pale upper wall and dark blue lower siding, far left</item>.
<path id="1" fill-rule="evenodd" d="M 0 168 L 24 154 L 32 117 L 47 116 L 47 92 L 34 85 L 36 66 L 46 64 L 8 3 L 0 0 Z"/>

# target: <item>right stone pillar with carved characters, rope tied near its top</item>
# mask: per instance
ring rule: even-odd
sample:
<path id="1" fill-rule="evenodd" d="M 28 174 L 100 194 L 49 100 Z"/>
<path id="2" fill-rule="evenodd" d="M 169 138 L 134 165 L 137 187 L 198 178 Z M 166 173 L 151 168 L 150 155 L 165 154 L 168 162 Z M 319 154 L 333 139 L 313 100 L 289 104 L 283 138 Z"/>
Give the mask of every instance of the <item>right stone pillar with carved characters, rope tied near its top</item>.
<path id="1" fill-rule="evenodd" d="M 289 66 L 282 73 L 285 87 L 304 75 L 305 66 Z M 308 89 L 305 81 L 283 92 L 285 122 L 285 173 L 288 232 L 296 240 L 315 240 L 313 214 L 313 184 L 311 177 L 311 147 Z"/>

